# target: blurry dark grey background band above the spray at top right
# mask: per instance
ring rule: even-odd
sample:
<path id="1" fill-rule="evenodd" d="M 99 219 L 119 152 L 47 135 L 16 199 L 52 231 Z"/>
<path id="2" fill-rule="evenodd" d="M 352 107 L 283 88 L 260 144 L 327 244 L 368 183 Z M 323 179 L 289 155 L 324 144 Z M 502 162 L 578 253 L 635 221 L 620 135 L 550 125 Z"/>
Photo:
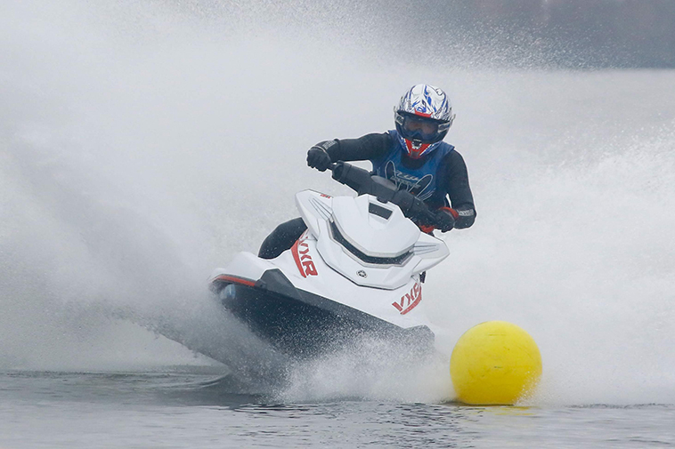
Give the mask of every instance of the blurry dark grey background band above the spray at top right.
<path id="1" fill-rule="evenodd" d="M 439 53 L 500 48 L 497 64 L 476 57 L 491 67 L 675 67 L 669 0 L 427 0 L 403 8 L 397 28 L 405 31 L 397 36 L 415 42 L 410 50 L 434 29 L 430 40 Z"/>

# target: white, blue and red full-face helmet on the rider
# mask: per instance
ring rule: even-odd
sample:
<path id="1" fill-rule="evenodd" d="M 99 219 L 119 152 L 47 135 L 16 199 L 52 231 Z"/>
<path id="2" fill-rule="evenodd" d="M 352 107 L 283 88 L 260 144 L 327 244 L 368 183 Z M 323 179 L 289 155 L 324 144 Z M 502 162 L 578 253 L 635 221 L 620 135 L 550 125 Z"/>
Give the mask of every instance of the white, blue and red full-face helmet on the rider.
<path id="1" fill-rule="evenodd" d="M 434 151 L 454 119 L 448 96 L 429 84 L 413 85 L 394 108 L 396 131 L 406 153 L 414 159 Z"/>

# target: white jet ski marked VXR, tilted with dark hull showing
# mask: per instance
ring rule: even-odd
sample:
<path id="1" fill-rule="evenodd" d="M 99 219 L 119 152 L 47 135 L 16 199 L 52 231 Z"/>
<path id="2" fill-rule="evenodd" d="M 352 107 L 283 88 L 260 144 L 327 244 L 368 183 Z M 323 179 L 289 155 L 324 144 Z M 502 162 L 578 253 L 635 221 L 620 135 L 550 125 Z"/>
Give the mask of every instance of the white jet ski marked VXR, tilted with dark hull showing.
<path id="1" fill-rule="evenodd" d="M 232 316 L 293 359 L 373 337 L 421 352 L 435 333 L 423 281 L 448 254 L 422 232 L 437 215 L 406 190 L 352 164 L 329 167 L 357 196 L 296 195 L 307 230 L 279 257 L 239 253 L 216 269 L 211 290 Z"/>

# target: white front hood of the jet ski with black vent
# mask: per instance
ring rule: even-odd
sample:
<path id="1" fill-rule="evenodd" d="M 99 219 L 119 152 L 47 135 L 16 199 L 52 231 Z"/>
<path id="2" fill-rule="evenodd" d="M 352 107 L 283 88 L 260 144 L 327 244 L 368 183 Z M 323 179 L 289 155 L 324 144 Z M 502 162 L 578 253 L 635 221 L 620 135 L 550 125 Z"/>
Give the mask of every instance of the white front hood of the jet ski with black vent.
<path id="1" fill-rule="evenodd" d="M 395 290 L 448 256 L 442 240 L 420 232 L 396 204 L 377 196 L 304 190 L 296 204 L 322 261 L 356 285 Z"/>

